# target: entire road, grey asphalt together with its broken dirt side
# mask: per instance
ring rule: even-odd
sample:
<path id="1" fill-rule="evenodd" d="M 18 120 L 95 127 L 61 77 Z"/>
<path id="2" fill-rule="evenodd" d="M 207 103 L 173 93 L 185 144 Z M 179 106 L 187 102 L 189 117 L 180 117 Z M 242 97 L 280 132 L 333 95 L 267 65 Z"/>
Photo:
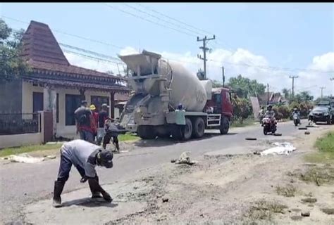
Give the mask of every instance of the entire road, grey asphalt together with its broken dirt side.
<path id="1" fill-rule="evenodd" d="M 279 184 L 290 184 L 292 178 L 287 177 L 286 172 L 303 165 L 301 155 L 303 151 L 311 150 L 311 139 L 328 129 L 333 128 L 320 126 L 310 129 L 311 135 L 304 136 L 304 131 L 288 122 L 279 124 L 278 131 L 283 136 L 264 136 L 258 125 L 232 129 L 225 136 L 211 134 L 205 139 L 185 143 L 138 141 L 129 147 L 128 153 L 116 155 L 113 169 L 97 169 L 101 183 L 114 198 L 113 204 L 87 198 L 89 188 L 87 184 L 79 183 L 78 172 L 73 170 L 62 195 L 66 207 L 54 209 L 51 192 L 58 159 L 34 165 L 2 164 L 1 221 L 32 224 L 197 224 L 216 221 L 219 224 L 221 221 L 254 219 L 250 207 L 279 200 L 291 212 L 275 214 L 275 218 L 288 223 L 290 217 L 299 213 L 296 210 L 309 208 L 299 203 L 300 196 L 285 201 L 274 189 Z M 246 141 L 246 137 L 258 140 Z M 273 141 L 290 141 L 297 146 L 297 151 L 274 157 L 252 154 L 254 150 L 268 148 Z M 191 152 L 194 160 L 199 160 L 197 165 L 169 162 L 186 150 Z M 323 195 L 327 195 L 328 190 L 324 190 Z M 324 199 L 333 200 L 333 197 Z M 318 204 L 334 207 L 326 200 Z M 312 212 L 308 220 L 295 222 L 328 224 L 333 221 L 333 216 L 321 214 L 319 209 L 316 207 L 316 212 Z M 269 212 L 266 214 L 274 216 Z"/>

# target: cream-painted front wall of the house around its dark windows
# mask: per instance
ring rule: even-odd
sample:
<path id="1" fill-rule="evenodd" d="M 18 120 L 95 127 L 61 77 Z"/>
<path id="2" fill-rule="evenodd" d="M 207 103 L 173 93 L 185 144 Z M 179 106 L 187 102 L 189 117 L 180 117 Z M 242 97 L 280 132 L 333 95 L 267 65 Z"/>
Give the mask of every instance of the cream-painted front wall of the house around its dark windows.
<path id="1" fill-rule="evenodd" d="M 40 86 L 33 86 L 30 83 L 23 82 L 22 85 L 22 110 L 25 113 L 32 113 L 32 92 L 44 92 L 44 88 Z M 63 136 L 70 139 L 76 139 L 78 138 L 78 135 L 75 134 L 76 128 L 75 126 L 66 126 L 66 100 L 65 96 L 66 94 L 75 94 L 79 95 L 80 91 L 78 89 L 64 89 L 64 88 L 56 88 L 55 89 L 56 94 L 58 94 L 58 103 L 59 103 L 59 120 L 56 123 L 56 136 Z M 104 96 L 109 97 L 110 101 L 110 93 L 109 92 L 103 92 L 103 91 L 85 91 L 85 98 L 88 103 L 88 105 L 91 104 L 91 96 Z M 109 103 L 110 105 L 110 103 Z M 110 110 L 110 109 L 109 109 Z M 111 115 L 111 112 L 109 111 L 109 115 Z M 115 108 L 115 117 L 119 117 L 119 110 L 118 108 Z"/>

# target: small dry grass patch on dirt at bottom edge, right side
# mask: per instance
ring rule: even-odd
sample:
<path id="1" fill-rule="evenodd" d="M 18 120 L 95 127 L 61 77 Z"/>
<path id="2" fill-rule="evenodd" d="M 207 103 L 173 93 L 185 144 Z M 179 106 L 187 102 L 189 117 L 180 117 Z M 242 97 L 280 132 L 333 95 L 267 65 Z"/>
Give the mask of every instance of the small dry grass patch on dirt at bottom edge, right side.
<path id="1" fill-rule="evenodd" d="M 255 205 L 249 208 L 248 212 L 244 215 L 244 217 L 252 221 L 271 220 L 273 219 L 273 214 L 284 214 L 284 210 L 286 208 L 286 205 L 260 200 L 256 202 Z"/>

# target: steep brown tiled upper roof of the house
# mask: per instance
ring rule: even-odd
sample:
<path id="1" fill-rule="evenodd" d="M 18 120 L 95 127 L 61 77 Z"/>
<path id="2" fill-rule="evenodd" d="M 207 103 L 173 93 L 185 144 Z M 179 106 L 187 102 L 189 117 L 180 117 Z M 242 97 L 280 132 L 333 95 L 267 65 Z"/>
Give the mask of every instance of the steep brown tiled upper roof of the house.
<path id="1" fill-rule="evenodd" d="M 54 34 L 52 34 L 49 26 L 44 23 L 31 21 L 27 31 L 23 34 L 22 40 L 23 52 L 21 56 L 27 60 L 34 70 L 66 73 L 68 75 L 109 77 L 120 80 L 120 77 L 105 72 L 70 65 Z"/>

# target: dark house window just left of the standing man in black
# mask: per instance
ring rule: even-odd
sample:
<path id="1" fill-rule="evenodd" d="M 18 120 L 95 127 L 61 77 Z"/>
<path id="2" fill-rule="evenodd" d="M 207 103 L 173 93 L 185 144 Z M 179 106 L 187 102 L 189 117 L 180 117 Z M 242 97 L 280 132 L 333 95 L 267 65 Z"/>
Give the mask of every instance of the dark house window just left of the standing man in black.
<path id="1" fill-rule="evenodd" d="M 81 96 L 74 94 L 65 95 L 65 125 L 75 125 L 74 111 L 79 108 L 81 103 Z"/>

